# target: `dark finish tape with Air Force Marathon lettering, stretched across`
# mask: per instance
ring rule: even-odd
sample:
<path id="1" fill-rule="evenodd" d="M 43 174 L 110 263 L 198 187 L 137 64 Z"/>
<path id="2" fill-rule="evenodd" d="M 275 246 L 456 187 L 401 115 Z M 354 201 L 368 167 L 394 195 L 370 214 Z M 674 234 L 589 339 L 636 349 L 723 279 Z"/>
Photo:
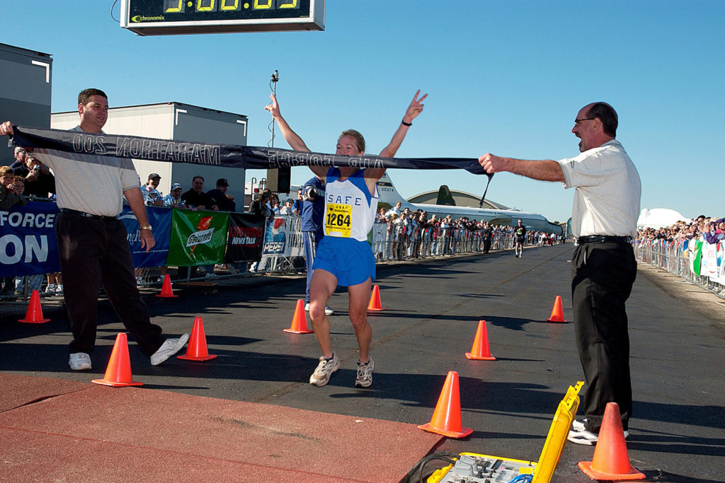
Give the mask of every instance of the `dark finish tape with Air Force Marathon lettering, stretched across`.
<path id="1" fill-rule="evenodd" d="M 381 158 L 378 156 L 337 156 L 304 153 L 288 149 L 230 144 L 206 144 L 190 141 L 139 138 L 76 131 L 13 126 L 8 146 L 65 151 L 80 156 L 114 156 L 147 161 L 207 164 L 243 169 L 273 169 L 295 166 L 396 169 L 465 169 L 474 175 L 486 175 L 478 159 L 467 158 Z M 489 176 L 489 181 L 492 175 Z"/>

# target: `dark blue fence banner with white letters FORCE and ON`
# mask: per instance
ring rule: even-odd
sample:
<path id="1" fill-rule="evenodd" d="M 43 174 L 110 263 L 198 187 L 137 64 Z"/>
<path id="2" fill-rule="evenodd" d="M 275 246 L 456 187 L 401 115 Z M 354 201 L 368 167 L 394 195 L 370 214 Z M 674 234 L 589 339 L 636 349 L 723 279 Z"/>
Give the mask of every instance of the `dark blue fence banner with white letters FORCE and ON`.
<path id="1" fill-rule="evenodd" d="M 0 277 L 60 272 L 55 203 L 31 201 L 0 211 Z"/>

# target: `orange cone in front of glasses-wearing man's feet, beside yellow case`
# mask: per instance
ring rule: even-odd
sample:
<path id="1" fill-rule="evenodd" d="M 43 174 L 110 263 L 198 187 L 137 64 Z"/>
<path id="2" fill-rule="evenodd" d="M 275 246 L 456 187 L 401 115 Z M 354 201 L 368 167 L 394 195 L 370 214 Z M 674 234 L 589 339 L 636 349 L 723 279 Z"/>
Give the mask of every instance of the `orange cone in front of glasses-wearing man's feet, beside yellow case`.
<path id="1" fill-rule="evenodd" d="M 629 463 L 624 429 L 617 403 L 607 403 L 592 461 L 579 461 L 579 469 L 591 479 L 645 479 Z"/>

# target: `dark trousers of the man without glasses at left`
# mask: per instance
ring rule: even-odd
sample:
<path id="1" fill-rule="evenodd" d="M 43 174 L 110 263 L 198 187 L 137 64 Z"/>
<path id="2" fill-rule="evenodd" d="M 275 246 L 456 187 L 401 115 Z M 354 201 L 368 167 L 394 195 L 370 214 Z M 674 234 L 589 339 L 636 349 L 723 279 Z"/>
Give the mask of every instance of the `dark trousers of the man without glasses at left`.
<path id="1" fill-rule="evenodd" d="M 136 287 L 123 223 L 115 218 L 100 220 L 61 213 L 55 232 L 73 333 L 70 353 L 91 353 L 96 345 L 97 302 L 102 285 L 141 352 L 151 357 L 165 339 L 161 327 L 150 322 L 149 308 Z"/>

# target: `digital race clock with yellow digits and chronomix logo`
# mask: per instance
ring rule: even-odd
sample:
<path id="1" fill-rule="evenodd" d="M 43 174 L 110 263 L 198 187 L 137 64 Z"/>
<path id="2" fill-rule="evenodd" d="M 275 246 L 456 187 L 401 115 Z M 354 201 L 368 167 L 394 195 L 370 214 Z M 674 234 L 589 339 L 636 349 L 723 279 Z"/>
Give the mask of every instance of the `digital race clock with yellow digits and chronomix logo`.
<path id="1" fill-rule="evenodd" d="M 122 0 L 138 35 L 325 30 L 325 0 Z"/>

